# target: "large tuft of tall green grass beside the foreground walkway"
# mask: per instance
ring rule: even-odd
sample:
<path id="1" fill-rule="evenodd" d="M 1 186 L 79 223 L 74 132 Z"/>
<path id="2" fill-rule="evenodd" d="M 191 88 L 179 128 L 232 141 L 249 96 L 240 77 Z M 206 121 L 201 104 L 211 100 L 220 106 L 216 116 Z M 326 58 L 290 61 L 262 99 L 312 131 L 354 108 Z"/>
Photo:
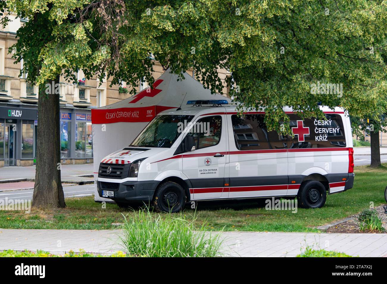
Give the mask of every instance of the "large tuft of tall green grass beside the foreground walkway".
<path id="1" fill-rule="evenodd" d="M 176 214 L 177 215 L 177 214 Z M 219 235 L 205 233 L 204 225 L 194 231 L 193 220 L 182 213 L 152 214 L 141 209 L 122 226 L 120 242 L 130 255 L 144 257 L 216 257 L 220 255 Z"/>

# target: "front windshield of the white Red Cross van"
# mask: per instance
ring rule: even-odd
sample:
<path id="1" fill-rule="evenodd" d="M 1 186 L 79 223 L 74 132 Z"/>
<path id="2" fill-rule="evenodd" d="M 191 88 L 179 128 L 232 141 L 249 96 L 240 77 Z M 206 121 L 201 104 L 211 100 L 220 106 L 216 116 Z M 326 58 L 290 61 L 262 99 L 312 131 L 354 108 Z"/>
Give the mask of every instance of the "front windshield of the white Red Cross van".
<path id="1" fill-rule="evenodd" d="M 183 115 L 156 116 L 130 146 L 171 148 L 181 130 L 194 118 Z M 180 127 L 182 126 L 182 127 Z"/>

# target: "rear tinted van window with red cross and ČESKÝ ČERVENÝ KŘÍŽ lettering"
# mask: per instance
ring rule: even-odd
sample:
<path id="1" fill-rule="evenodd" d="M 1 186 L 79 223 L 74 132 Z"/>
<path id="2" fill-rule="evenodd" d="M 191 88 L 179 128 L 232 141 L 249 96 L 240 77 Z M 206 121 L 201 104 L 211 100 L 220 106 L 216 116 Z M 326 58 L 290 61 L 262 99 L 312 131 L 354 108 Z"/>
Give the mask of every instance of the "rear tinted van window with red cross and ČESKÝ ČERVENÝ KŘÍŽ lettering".
<path id="1" fill-rule="evenodd" d="M 305 118 L 301 119 L 296 114 L 289 114 L 290 128 L 294 128 L 293 133 L 303 131 L 300 141 L 298 135 L 289 137 L 289 148 L 336 148 L 346 147 L 344 125 L 339 114 L 325 114 L 326 120 Z M 298 125 L 297 121 L 303 121 L 303 125 Z"/>

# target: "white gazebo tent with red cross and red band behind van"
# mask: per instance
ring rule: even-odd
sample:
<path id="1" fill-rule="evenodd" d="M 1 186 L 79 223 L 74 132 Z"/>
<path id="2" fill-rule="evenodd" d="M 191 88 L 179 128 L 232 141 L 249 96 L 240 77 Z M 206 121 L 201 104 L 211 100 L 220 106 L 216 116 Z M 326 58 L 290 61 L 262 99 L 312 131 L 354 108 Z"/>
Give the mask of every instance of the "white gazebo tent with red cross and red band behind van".
<path id="1" fill-rule="evenodd" d="M 128 99 L 91 110 L 94 180 L 98 177 L 101 160 L 120 150 L 137 137 L 145 126 L 161 111 L 186 106 L 188 100 L 230 100 L 209 89 L 184 73 L 185 79 L 165 71 L 154 83 Z M 95 201 L 111 201 L 98 196 L 95 184 Z"/>

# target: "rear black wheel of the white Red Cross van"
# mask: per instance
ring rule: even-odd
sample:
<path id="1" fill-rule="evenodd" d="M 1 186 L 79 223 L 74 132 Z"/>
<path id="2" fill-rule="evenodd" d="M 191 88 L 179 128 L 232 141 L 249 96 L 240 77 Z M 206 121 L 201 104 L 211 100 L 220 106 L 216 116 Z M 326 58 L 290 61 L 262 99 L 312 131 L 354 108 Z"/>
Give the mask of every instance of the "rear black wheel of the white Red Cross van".
<path id="1" fill-rule="evenodd" d="M 297 203 L 301 208 L 320 208 L 327 200 L 327 190 L 317 180 L 307 180 L 301 184 L 297 194 Z"/>

